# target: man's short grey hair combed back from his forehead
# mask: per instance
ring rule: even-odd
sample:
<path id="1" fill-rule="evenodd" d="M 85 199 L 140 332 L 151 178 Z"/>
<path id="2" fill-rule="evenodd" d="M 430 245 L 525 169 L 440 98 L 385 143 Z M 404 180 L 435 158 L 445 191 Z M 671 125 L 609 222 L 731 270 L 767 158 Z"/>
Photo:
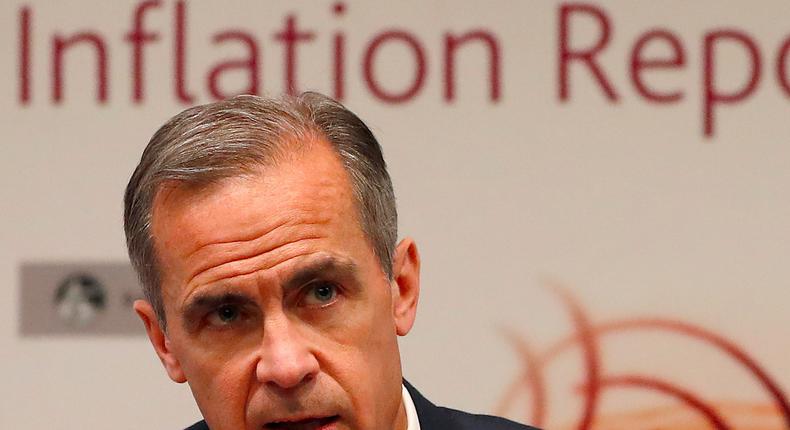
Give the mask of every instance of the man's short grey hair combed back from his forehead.
<path id="1" fill-rule="evenodd" d="M 362 231 L 392 279 L 397 211 L 381 147 L 340 103 L 318 93 L 280 99 L 237 96 L 187 109 L 151 138 L 124 196 L 129 257 L 146 299 L 166 327 L 161 273 L 151 233 L 154 197 L 165 182 L 203 187 L 275 164 L 315 138 L 326 140 L 349 175 Z"/>

